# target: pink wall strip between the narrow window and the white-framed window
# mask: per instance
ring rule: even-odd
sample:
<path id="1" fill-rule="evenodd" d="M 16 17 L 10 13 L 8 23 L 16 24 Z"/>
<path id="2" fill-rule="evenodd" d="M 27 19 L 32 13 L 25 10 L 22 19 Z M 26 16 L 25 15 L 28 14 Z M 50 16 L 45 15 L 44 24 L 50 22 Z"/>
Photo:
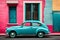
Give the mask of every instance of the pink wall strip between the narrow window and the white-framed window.
<path id="1" fill-rule="evenodd" d="M 23 22 L 23 1 L 19 0 L 17 4 L 17 23 L 21 25 Z"/>

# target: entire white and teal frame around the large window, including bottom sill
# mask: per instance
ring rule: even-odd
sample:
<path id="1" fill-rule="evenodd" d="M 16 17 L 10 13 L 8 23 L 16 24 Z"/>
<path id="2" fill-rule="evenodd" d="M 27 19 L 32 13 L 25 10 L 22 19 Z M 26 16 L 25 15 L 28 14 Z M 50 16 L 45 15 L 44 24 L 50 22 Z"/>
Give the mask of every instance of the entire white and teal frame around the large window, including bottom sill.
<path id="1" fill-rule="evenodd" d="M 39 20 L 25 20 L 25 3 L 39 3 Z M 42 22 L 42 1 L 23 1 L 23 22 Z"/>

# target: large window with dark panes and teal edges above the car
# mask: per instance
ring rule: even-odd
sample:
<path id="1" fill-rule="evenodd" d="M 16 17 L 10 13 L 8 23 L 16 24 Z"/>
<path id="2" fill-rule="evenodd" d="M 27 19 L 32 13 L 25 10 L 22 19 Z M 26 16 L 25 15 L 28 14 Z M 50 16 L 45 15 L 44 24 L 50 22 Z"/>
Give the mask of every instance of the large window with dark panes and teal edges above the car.
<path id="1" fill-rule="evenodd" d="M 39 20 L 39 3 L 25 3 L 25 20 Z"/>

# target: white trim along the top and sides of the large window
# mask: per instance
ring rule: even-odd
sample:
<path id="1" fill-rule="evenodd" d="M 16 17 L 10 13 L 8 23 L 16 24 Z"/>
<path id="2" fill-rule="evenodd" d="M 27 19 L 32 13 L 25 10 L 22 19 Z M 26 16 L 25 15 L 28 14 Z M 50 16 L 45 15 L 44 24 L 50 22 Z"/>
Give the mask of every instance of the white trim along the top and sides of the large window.
<path id="1" fill-rule="evenodd" d="M 40 22 L 42 22 L 42 1 L 23 1 L 23 22 L 25 22 L 25 3 L 40 3 Z"/>

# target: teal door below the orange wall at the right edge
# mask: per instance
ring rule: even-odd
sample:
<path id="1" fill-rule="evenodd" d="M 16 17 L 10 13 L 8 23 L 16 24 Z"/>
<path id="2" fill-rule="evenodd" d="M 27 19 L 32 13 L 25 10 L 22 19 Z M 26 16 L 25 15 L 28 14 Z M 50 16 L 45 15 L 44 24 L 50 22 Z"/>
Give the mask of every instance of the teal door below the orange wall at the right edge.
<path id="1" fill-rule="evenodd" d="M 60 12 L 53 12 L 53 29 L 54 32 L 60 32 Z"/>

